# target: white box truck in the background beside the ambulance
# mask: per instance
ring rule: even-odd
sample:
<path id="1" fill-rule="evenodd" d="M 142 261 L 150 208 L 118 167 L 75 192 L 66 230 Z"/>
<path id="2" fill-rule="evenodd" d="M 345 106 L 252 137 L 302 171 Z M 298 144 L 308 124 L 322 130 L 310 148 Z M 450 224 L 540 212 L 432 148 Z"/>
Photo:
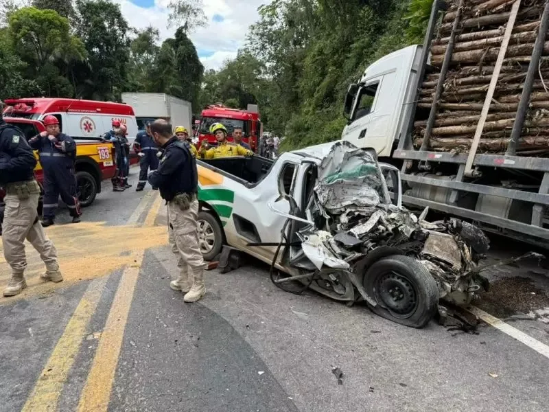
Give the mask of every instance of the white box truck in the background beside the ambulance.
<path id="1" fill-rule="evenodd" d="M 146 122 L 165 119 L 172 126 L 185 126 L 192 130 L 191 103 L 165 93 L 122 93 L 122 101 L 132 106 L 139 130 Z"/>

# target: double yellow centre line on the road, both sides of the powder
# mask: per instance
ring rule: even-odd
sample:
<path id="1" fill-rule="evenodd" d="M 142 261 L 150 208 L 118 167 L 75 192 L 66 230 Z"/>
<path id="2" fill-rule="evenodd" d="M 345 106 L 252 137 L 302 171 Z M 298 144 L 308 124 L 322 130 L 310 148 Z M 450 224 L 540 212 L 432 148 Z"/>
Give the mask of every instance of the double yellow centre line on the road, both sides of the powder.
<path id="1" fill-rule="evenodd" d="M 141 200 L 143 205 L 140 203 L 136 211 L 143 211 L 150 197 L 144 196 Z M 156 199 L 145 217 L 143 226 L 154 226 L 160 207 L 161 198 L 156 192 Z M 137 222 L 137 218 L 135 216 L 130 218 L 131 223 L 134 223 L 133 220 Z M 139 268 L 143 263 L 143 255 L 144 251 L 134 251 L 132 253 L 134 263 L 127 266 L 122 274 L 104 330 L 100 336 L 86 385 L 84 385 L 80 396 L 79 412 L 103 412 L 108 408 L 124 330 L 128 321 L 135 284 L 139 277 Z M 67 382 L 75 358 L 78 356 L 84 336 L 86 336 L 86 329 L 97 308 L 107 279 L 107 276 L 96 279 L 86 289 L 84 297 L 80 300 L 54 351 L 49 356 L 22 409 L 23 412 L 56 411 L 61 391 Z"/>

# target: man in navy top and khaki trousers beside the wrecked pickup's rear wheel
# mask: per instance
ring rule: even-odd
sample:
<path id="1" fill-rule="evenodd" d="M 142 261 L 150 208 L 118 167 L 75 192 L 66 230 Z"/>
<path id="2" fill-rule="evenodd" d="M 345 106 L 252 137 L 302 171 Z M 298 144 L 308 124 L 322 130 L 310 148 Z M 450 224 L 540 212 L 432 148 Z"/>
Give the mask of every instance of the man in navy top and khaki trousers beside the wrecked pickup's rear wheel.
<path id="1" fill-rule="evenodd" d="M 159 168 L 150 172 L 148 181 L 159 187 L 167 202 L 168 225 L 174 231 L 175 244 L 182 259 L 178 278 L 170 287 L 185 293 L 185 302 L 198 301 L 206 291 L 204 260 L 198 246 L 198 171 L 189 147 L 176 136 L 163 119 L 150 125 L 152 138 L 161 146 Z"/>

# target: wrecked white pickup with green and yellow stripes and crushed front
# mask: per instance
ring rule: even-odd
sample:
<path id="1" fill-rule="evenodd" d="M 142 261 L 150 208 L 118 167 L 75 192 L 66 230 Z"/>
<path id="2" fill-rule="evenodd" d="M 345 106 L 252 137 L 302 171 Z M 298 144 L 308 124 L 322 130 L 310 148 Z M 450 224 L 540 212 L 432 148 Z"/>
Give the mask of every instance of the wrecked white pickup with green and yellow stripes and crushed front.
<path id="1" fill-rule="evenodd" d="M 272 281 L 285 290 L 295 291 L 297 281 L 331 299 L 366 301 L 376 314 L 414 328 L 445 310 L 439 299 L 467 305 L 487 288 L 474 270 L 489 247 L 484 233 L 456 219 L 426 222 L 426 213 L 402 208 L 399 170 L 380 165 L 373 150 L 335 141 L 274 162 L 197 163 L 207 260 L 228 244 L 271 264 Z"/>

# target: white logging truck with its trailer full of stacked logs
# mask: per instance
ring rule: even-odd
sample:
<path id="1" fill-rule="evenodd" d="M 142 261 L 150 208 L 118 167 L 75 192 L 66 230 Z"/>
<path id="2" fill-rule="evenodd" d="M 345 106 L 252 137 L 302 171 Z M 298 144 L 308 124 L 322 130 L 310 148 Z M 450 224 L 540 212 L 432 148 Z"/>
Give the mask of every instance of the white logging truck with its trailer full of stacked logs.
<path id="1" fill-rule="evenodd" d="M 549 1 L 434 0 L 423 45 L 349 86 L 342 139 L 401 169 L 408 207 L 548 247 L 548 28 Z"/>

